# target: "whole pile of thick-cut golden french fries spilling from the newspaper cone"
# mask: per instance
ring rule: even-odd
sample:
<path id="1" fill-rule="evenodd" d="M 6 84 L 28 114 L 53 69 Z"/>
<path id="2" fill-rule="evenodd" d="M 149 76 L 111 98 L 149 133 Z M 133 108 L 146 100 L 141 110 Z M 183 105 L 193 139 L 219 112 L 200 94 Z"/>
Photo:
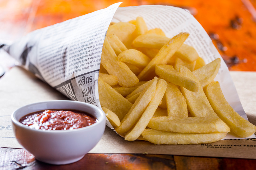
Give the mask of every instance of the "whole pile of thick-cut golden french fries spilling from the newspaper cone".
<path id="1" fill-rule="evenodd" d="M 184 44 L 188 36 L 169 38 L 159 28 L 148 30 L 141 17 L 109 26 L 101 56 L 100 104 L 125 140 L 204 144 L 230 131 L 240 137 L 256 131 L 212 83 L 220 58 L 205 65 L 195 48 Z"/>

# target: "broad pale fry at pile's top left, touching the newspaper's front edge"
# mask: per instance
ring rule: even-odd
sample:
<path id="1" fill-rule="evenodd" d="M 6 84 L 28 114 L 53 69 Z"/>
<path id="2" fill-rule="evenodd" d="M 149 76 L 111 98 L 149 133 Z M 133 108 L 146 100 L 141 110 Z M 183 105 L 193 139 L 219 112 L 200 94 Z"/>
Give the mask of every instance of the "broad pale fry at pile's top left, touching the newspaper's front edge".
<path id="1" fill-rule="evenodd" d="M 135 38 L 134 30 L 136 26 L 128 22 L 118 22 L 108 27 L 108 34 L 115 33 L 127 48 L 131 48 L 132 41 Z"/>

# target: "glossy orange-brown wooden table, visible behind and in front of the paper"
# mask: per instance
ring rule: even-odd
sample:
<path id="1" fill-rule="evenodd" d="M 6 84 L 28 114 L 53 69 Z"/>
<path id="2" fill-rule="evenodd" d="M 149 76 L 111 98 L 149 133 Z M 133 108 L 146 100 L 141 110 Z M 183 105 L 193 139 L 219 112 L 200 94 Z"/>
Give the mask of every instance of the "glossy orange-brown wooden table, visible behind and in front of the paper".
<path id="1" fill-rule="evenodd" d="M 118 1 L 63 1 L 41 0 L 32 3 L 34 17 L 31 31 L 74 18 Z M 39 2 L 39 1 L 38 1 Z M 189 9 L 211 36 L 230 70 L 256 71 L 256 12 L 255 1 L 174 1 L 163 0 L 161 4 L 182 6 Z M 84 5 L 84 8 L 81 7 Z M 125 1 L 121 6 L 159 4 L 159 1 Z M 26 4 L 29 6 L 29 4 Z M 0 3 L 1 6 L 1 3 Z M 59 8 L 56 8 L 58 6 Z M 38 8 L 37 8 L 38 7 Z M 36 9 L 36 10 L 35 10 Z M 57 10 L 58 9 L 58 10 Z M 27 16 L 29 18 L 29 16 Z M 16 18 L 24 19 L 24 18 Z M 14 19 L 15 21 L 15 19 Z M 13 21 L 13 22 L 14 22 Z M 31 21 L 31 20 L 30 20 Z M 80 161 L 55 166 L 36 161 L 23 149 L 0 148 L 0 169 L 255 169 L 254 159 L 192 157 L 154 154 L 87 154 Z"/>

